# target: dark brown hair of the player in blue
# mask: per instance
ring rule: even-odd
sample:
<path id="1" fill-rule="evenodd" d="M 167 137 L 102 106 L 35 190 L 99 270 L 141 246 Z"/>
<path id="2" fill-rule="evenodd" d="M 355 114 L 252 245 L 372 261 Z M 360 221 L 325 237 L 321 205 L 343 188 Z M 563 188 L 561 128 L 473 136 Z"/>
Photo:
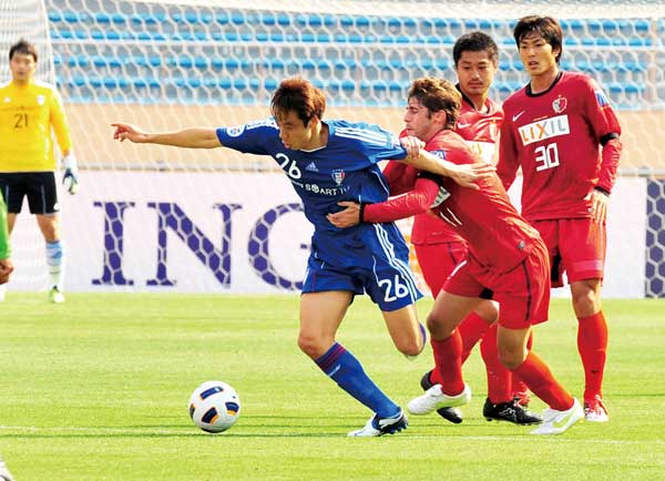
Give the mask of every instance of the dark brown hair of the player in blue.
<path id="1" fill-rule="evenodd" d="M 270 111 L 275 119 L 285 117 L 288 112 L 294 111 L 307 125 L 314 116 L 323 119 L 326 111 L 326 95 L 308 81 L 295 76 L 282 81 L 273 94 Z"/>

